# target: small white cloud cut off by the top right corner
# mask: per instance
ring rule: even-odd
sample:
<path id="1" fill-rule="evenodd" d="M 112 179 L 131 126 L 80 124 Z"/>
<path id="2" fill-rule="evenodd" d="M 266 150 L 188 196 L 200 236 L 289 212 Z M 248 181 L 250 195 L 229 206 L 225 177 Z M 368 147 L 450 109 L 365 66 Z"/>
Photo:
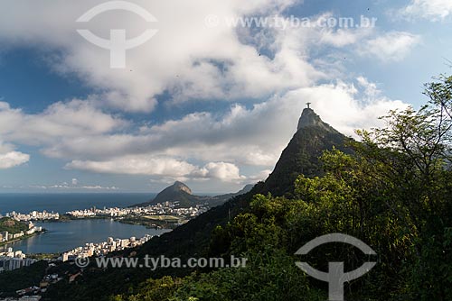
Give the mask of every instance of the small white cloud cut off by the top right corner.
<path id="1" fill-rule="evenodd" d="M 444 21 L 452 14 L 450 0 L 411 0 L 401 13 L 409 17 L 421 17 L 430 21 Z"/>

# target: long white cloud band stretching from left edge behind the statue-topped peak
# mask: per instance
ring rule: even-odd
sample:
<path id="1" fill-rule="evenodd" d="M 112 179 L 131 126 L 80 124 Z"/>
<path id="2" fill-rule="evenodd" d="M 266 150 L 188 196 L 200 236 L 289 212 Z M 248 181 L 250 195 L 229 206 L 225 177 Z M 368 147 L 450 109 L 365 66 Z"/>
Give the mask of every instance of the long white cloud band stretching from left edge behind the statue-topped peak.
<path id="1" fill-rule="evenodd" d="M 24 114 L 4 104 L 0 115 L 5 118 L 0 120 L 7 122 L 0 131 L 13 142 L 37 143 L 44 154 L 69 160 L 67 169 L 239 181 L 245 177 L 241 167 L 274 166 L 296 131 L 306 102 L 313 103 L 325 122 L 349 135 L 356 128 L 378 125 L 377 116 L 404 106 L 381 96 L 367 78 L 356 78 L 356 84 L 338 81 L 301 87 L 250 108 L 237 104 L 224 114 L 187 114 L 135 133 L 123 133 L 123 120 L 81 101 L 51 105 L 37 114 Z"/>

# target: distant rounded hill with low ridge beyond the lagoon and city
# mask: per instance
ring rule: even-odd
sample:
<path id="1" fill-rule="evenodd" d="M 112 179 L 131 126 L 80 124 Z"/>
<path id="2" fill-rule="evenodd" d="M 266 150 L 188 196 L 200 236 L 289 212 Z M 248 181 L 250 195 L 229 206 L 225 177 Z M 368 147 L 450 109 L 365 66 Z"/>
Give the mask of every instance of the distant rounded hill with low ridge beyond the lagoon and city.
<path id="1" fill-rule="evenodd" d="M 166 187 L 162 190 L 152 201 L 132 205 L 132 206 L 146 206 L 146 205 L 157 205 L 159 203 L 163 204 L 165 202 L 179 202 L 181 207 L 190 207 L 193 205 L 208 204 L 211 207 L 222 205 L 224 202 L 228 201 L 234 196 L 240 196 L 251 190 L 254 185 L 247 185 L 243 187 L 239 192 L 221 195 L 221 196 L 194 196 L 192 194 L 192 189 L 186 186 L 184 183 L 176 181 L 170 187 Z"/>

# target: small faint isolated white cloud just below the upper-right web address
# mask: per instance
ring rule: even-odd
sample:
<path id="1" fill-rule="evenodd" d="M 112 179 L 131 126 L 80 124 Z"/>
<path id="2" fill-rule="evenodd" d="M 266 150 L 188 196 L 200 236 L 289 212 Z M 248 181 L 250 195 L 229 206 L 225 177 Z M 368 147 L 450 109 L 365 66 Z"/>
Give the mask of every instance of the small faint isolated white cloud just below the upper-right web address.
<path id="1" fill-rule="evenodd" d="M 358 52 L 363 56 L 377 58 L 384 62 L 399 61 L 410 54 L 410 50 L 419 42 L 419 35 L 410 32 L 388 32 L 364 41 Z"/>

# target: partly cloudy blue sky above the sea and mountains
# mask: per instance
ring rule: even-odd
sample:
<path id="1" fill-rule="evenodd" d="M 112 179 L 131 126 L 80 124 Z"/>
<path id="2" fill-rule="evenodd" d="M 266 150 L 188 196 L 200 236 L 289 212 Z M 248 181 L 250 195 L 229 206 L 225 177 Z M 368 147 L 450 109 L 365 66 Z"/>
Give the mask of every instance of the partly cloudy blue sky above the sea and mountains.
<path id="1" fill-rule="evenodd" d="M 307 102 L 353 136 L 425 104 L 452 60 L 450 0 L 0 7 L 0 193 L 238 191 Z"/>

